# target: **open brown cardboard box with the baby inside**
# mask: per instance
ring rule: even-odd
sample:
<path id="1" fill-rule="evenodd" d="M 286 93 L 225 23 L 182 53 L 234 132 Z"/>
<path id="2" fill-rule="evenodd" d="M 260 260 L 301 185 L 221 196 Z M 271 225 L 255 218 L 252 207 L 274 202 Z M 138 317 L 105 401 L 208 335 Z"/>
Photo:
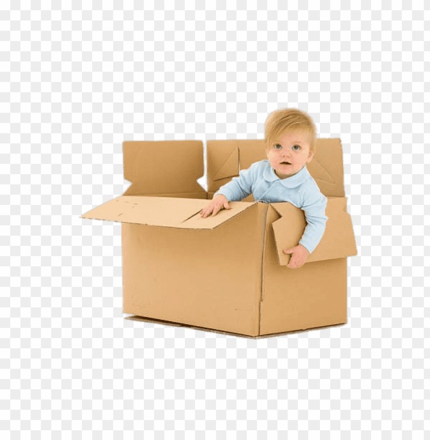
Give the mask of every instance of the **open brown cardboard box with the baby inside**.
<path id="1" fill-rule="evenodd" d="M 221 185 L 266 159 L 263 140 L 126 141 L 121 196 L 82 218 L 122 223 L 123 311 L 247 336 L 347 322 L 347 257 L 357 249 L 346 211 L 340 139 L 317 139 L 307 164 L 328 197 L 326 231 L 304 266 L 286 267 L 304 213 L 255 202 L 200 217 Z"/>

